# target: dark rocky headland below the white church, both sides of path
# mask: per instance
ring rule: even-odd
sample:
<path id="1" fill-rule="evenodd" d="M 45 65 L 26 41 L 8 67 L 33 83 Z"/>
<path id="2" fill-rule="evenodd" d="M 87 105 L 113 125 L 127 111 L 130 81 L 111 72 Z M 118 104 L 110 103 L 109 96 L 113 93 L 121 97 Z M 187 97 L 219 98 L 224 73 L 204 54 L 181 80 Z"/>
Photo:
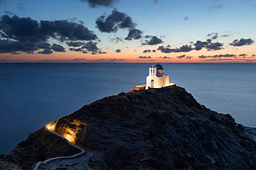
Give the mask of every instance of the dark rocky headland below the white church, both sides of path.
<path id="1" fill-rule="evenodd" d="M 76 145 L 95 153 L 92 169 L 256 169 L 254 129 L 200 105 L 181 87 L 102 98 L 55 123 L 55 131 L 75 134 Z M 8 157 L 28 169 L 68 149 L 41 129 Z"/>

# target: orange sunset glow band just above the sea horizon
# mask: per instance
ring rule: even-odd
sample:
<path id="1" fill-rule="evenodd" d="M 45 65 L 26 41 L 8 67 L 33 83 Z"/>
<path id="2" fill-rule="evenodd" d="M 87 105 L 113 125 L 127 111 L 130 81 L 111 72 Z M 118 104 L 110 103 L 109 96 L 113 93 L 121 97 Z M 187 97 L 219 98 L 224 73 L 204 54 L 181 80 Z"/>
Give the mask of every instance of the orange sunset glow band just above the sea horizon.
<path id="1" fill-rule="evenodd" d="M 222 60 L 218 58 L 207 58 L 199 59 L 198 56 L 213 56 L 219 54 L 235 54 L 236 57 L 223 57 Z M 239 54 L 247 54 L 247 56 L 239 56 Z M 83 54 L 80 52 L 55 52 L 53 54 L 0 54 L 0 60 L 3 62 L 60 62 L 60 63 L 104 63 L 104 62 L 115 62 L 115 63 L 223 63 L 223 62 L 247 62 L 255 61 L 256 50 L 246 49 L 245 50 L 192 50 L 190 52 L 179 52 L 179 53 L 162 53 L 160 51 L 143 53 L 142 50 L 134 52 L 134 50 L 122 50 L 120 53 L 108 52 L 107 54 Z M 178 59 L 177 56 L 191 56 L 191 59 Z M 150 56 L 147 59 L 140 59 L 139 56 Z M 161 58 L 159 58 L 161 56 Z M 163 57 L 166 57 L 163 59 Z"/>

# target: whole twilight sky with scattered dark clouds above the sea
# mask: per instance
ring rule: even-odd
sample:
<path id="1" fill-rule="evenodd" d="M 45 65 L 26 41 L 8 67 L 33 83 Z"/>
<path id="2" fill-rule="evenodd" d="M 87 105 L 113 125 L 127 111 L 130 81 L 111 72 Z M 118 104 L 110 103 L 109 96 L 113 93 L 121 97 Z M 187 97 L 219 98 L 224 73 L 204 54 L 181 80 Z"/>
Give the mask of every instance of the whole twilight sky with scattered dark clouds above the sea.
<path id="1" fill-rule="evenodd" d="M 0 62 L 255 63 L 256 0 L 0 0 Z"/>

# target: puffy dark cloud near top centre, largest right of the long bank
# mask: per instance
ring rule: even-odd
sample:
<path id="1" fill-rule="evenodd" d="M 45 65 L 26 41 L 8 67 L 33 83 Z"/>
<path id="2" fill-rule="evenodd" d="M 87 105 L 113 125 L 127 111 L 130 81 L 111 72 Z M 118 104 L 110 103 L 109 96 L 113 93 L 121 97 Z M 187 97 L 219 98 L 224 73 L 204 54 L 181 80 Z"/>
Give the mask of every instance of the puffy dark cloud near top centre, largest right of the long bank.
<path id="1" fill-rule="evenodd" d="M 134 28 L 136 25 L 131 21 L 131 17 L 123 12 L 118 12 L 116 8 L 105 19 L 105 16 L 99 17 L 95 21 L 97 28 L 101 32 L 116 32 L 118 28 Z"/>

